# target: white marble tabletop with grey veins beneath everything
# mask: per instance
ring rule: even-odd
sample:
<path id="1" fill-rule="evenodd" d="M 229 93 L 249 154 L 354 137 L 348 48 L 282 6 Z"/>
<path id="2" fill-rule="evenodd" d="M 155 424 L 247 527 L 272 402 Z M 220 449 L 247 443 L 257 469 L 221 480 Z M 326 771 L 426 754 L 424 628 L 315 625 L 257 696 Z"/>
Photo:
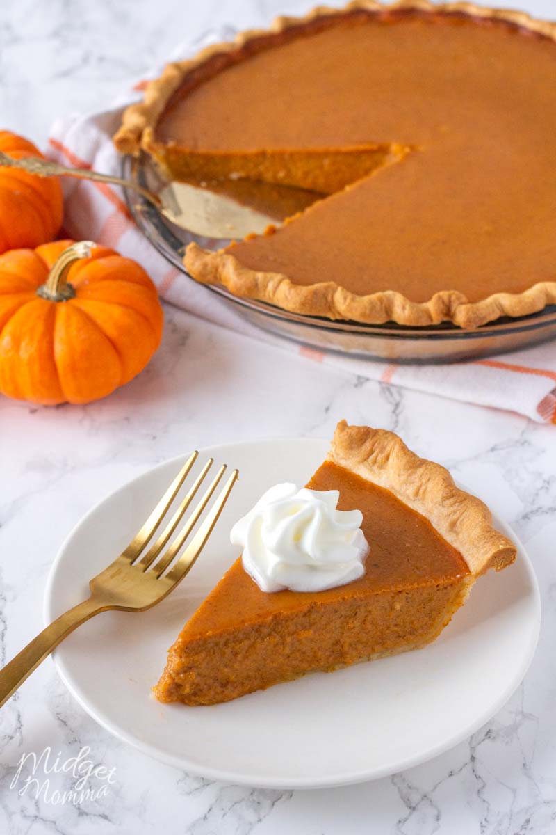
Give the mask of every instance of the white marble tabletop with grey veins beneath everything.
<path id="1" fill-rule="evenodd" d="M 43 142 L 54 115 L 102 107 L 186 34 L 193 40 L 214 25 L 265 23 L 308 5 L 3 0 L 3 124 Z M 521 5 L 556 17 L 553 0 Z M 518 693 L 472 739 L 409 772 L 328 791 L 250 791 L 188 776 L 123 746 L 73 701 L 48 660 L 0 714 L 0 832 L 556 832 L 556 430 L 343 376 L 271 347 L 253 352 L 248 339 L 171 307 L 153 362 L 106 401 L 58 408 L 0 403 L 0 661 L 42 628 L 49 565 L 99 498 L 193 446 L 328 437 L 340 417 L 395 429 L 471 487 L 494 488 L 495 509 L 527 544 L 543 593 L 541 640 Z M 46 746 L 61 761 L 90 746 L 95 762 L 116 768 L 108 797 L 78 807 L 19 797 L 10 787 L 15 764 L 23 752 Z M 70 783 L 57 778 L 53 787 Z"/>

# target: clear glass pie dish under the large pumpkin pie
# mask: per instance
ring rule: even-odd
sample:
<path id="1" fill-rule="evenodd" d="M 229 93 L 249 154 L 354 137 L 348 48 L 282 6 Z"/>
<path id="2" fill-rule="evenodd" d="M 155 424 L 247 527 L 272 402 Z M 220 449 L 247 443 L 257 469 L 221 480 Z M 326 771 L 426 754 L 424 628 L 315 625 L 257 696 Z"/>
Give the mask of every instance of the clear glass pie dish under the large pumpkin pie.
<path id="1" fill-rule="evenodd" d="M 146 155 L 123 158 L 122 176 L 149 190 L 158 191 L 163 180 Z M 183 252 L 192 240 L 218 249 L 227 241 L 208 240 L 183 230 L 165 218 L 142 195 L 131 189 L 124 193 L 138 229 L 166 260 L 189 281 L 193 278 L 183 266 Z M 530 316 L 503 317 L 487 325 L 465 330 L 443 323 L 428 327 L 409 327 L 388 322 L 365 325 L 360 322 L 331 321 L 317 316 L 290 313 L 262 301 L 233 296 L 223 286 L 207 285 L 220 303 L 232 306 L 245 321 L 318 351 L 333 351 L 353 357 L 386 362 L 459 362 L 517 351 L 556 338 L 556 305 Z M 216 301 L 216 298 L 215 298 Z"/>

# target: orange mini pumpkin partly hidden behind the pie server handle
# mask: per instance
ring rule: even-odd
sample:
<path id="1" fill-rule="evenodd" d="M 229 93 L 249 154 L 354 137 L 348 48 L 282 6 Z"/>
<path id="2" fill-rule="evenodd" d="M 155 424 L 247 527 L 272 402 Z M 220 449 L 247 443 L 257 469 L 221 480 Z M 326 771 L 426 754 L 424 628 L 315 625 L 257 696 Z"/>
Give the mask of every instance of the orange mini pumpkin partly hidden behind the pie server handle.
<path id="1" fill-rule="evenodd" d="M 43 157 L 32 142 L 8 130 L 0 130 L 0 151 L 16 159 Z M 62 186 L 57 177 L 0 167 L 0 252 L 53 240 L 62 218 Z"/>

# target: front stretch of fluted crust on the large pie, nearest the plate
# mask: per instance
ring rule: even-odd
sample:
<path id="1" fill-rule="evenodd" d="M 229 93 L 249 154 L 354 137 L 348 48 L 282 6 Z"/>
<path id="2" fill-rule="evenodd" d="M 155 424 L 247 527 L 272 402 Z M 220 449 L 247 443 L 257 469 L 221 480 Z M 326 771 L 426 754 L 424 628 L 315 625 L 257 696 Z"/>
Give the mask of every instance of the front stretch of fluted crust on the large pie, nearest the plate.
<path id="1" fill-rule="evenodd" d="M 499 316 L 527 316 L 556 304 L 556 281 L 543 281 L 523 293 L 493 293 L 481 301 L 469 302 L 463 293 L 443 290 L 428 301 L 411 301 L 395 290 L 358 296 L 334 281 L 296 284 L 283 273 L 259 272 L 244 266 L 233 253 L 203 250 L 188 245 L 183 258 L 188 273 L 202 284 L 222 284 L 234 296 L 266 301 L 293 313 L 325 316 L 380 325 L 428 326 L 453 321 L 474 328 Z"/>

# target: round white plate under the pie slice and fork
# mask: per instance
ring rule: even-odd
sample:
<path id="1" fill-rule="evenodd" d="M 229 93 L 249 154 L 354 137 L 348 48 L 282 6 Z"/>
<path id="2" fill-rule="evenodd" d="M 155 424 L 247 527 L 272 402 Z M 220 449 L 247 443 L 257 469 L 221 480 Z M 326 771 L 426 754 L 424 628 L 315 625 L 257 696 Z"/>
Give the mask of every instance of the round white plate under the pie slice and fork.
<path id="1" fill-rule="evenodd" d="M 478 582 L 423 650 L 305 676 L 224 705 L 161 705 L 150 695 L 168 646 L 237 553 L 228 540 L 233 522 L 271 484 L 305 483 L 327 448 L 325 441 L 298 439 L 201 451 L 199 461 L 212 455 L 237 467 L 240 480 L 191 574 L 153 609 L 98 615 L 56 651 L 63 681 L 93 719 L 152 757 L 203 777 L 309 788 L 414 766 L 470 736 L 503 706 L 538 638 L 538 586 L 523 548 L 512 567 Z M 88 595 L 89 577 L 128 543 L 181 460 L 128 483 L 73 530 L 48 581 L 47 622 Z M 513 536 L 499 520 L 498 526 Z"/>

